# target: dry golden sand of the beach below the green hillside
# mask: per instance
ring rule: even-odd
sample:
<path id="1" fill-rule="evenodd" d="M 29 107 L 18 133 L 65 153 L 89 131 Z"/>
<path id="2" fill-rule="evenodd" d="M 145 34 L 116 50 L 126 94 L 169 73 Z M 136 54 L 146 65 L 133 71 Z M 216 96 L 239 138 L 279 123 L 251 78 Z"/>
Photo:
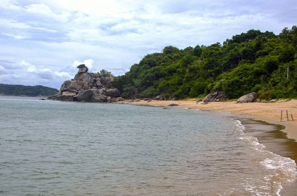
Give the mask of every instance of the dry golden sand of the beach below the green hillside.
<path id="1" fill-rule="evenodd" d="M 282 101 L 282 100 L 281 100 Z M 283 130 L 288 133 L 288 138 L 297 140 L 297 100 L 292 99 L 287 102 L 275 102 L 275 103 L 236 103 L 231 102 L 210 102 L 209 104 L 198 104 L 196 101 L 157 101 L 152 100 L 150 102 L 141 100 L 139 102 L 129 102 L 132 104 L 144 104 L 144 105 L 159 105 L 167 106 L 169 104 L 175 103 L 183 108 L 191 109 L 201 109 L 201 110 L 211 110 L 211 111 L 228 111 L 237 114 L 246 114 L 249 118 L 254 118 L 256 120 L 266 121 L 272 124 L 285 125 L 286 128 Z M 281 122 L 281 110 L 288 110 L 289 114 L 293 114 L 296 118 L 294 121 Z M 287 120 L 287 117 L 283 117 Z M 290 116 L 289 116 L 289 119 Z"/>

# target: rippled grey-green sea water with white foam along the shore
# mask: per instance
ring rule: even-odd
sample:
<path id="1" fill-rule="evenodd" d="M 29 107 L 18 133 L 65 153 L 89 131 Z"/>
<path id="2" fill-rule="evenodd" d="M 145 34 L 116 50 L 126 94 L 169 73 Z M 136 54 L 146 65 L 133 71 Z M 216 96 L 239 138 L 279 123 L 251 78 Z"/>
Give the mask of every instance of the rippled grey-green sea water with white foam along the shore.
<path id="1" fill-rule="evenodd" d="M 240 116 L 0 97 L 0 195 L 277 196 L 294 160 Z"/>

